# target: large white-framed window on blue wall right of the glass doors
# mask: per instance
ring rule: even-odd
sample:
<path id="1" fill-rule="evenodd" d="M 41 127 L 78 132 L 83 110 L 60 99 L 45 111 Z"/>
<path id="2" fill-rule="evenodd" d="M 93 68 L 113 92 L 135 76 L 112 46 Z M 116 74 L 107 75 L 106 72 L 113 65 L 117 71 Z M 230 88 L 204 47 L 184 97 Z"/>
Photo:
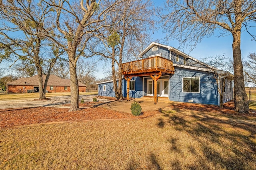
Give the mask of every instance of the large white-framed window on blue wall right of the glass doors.
<path id="1" fill-rule="evenodd" d="M 182 78 L 182 92 L 200 93 L 200 77 Z"/>

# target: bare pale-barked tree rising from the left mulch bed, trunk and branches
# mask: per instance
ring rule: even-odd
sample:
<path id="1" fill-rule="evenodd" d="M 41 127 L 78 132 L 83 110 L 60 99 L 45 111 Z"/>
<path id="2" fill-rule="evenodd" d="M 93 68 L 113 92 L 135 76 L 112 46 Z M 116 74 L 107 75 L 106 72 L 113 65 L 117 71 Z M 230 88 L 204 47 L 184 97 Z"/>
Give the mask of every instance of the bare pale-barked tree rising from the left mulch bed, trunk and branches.
<path id="1" fill-rule="evenodd" d="M 80 4 L 72 3 L 66 0 L 50 0 L 48 3 L 52 6 L 56 15 L 55 25 L 58 29 L 58 36 L 45 34 L 60 48 L 65 49 L 68 54 L 70 69 L 70 89 L 71 104 L 69 111 L 79 109 L 78 105 L 78 78 L 76 75 L 76 63 L 80 56 L 90 57 L 86 54 L 88 41 L 93 37 L 93 33 L 102 27 L 114 25 L 105 24 L 108 13 L 118 4 L 126 0 L 80 0 Z M 65 40 L 65 41 L 63 41 Z"/>

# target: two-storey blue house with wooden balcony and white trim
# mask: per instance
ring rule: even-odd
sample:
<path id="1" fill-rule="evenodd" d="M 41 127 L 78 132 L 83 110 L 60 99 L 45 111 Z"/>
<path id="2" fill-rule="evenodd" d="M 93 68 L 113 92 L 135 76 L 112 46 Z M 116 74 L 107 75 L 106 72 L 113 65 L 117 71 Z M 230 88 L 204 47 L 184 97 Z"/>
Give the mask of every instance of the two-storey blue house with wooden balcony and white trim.
<path id="1" fill-rule="evenodd" d="M 142 59 L 122 64 L 122 92 L 129 98 L 168 98 L 175 102 L 220 105 L 233 98 L 233 75 L 178 49 L 151 43 Z M 223 87 L 223 88 L 222 88 Z M 113 82 L 98 83 L 98 95 L 115 97 Z"/>

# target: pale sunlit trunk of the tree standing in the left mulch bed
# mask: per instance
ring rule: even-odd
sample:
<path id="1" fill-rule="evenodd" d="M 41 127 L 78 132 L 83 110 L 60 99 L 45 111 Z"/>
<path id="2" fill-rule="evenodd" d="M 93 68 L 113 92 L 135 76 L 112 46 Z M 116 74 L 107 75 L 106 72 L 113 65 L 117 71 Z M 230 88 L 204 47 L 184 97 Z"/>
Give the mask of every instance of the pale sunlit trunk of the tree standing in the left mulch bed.
<path id="1" fill-rule="evenodd" d="M 70 108 L 69 111 L 79 110 L 79 88 L 78 88 L 78 79 L 76 75 L 76 63 L 75 63 L 75 53 L 68 53 L 69 59 L 69 72 L 70 72 Z"/>

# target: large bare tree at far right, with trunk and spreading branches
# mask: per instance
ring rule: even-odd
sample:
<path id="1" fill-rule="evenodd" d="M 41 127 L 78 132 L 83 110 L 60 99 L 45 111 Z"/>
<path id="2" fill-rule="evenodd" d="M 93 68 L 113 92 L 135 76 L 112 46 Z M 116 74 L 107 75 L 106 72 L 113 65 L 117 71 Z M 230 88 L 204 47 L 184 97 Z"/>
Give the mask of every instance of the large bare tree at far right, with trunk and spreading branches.
<path id="1" fill-rule="evenodd" d="M 193 48 L 198 41 L 210 37 L 217 30 L 223 31 L 220 36 L 232 35 L 235 110 L 248 113 L 240 43 L 241 29 L 256 40 L 252 34 L 256 20 L 256 1 L 167 0 L 164 9 L 158 12 L 162 28 L 169 34 L 166 39 L 177 38 L 182 45 L 191 45 L 188 48 Z"/>

